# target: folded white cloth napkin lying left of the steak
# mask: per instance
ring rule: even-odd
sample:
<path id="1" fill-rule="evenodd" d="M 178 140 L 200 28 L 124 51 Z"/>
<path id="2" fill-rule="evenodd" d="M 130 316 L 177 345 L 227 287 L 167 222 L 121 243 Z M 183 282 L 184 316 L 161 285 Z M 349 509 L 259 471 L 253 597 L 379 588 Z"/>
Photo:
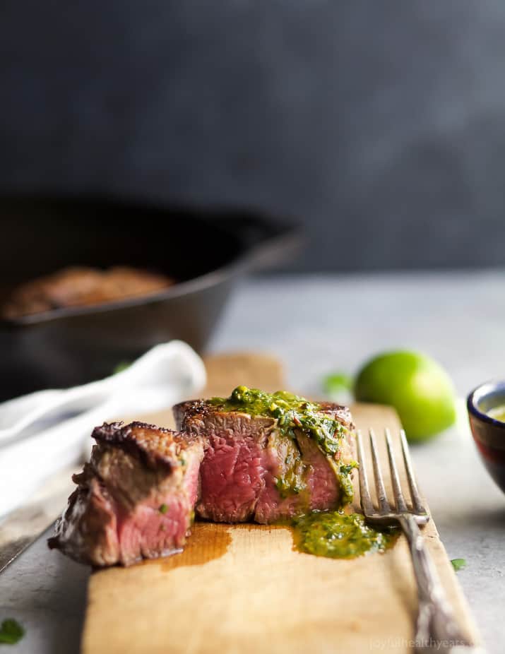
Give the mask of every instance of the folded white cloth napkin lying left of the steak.
<path id="1" fill-rule="evenodd" d="M 97 424 L 168 408 L 205 384 L 200 357 L 173 340 L 107 379 L 0 404 L 0 516 L 27 501 L 54 473 L 80 463 Z"/>

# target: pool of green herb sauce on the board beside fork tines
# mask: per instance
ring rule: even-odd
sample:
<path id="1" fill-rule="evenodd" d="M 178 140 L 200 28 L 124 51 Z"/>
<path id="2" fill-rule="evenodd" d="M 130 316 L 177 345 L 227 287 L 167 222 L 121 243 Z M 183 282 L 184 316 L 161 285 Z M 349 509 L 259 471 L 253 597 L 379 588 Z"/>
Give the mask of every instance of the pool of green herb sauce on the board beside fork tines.
<path id="1" fill-rule="evenodd" d="M 295 546 L 302 552 L 331 559 L 353 559 L 384 552 L 398 537 L 398 528 L 369 527 L 359 513 L 312 511 L 294 518 Z"/>

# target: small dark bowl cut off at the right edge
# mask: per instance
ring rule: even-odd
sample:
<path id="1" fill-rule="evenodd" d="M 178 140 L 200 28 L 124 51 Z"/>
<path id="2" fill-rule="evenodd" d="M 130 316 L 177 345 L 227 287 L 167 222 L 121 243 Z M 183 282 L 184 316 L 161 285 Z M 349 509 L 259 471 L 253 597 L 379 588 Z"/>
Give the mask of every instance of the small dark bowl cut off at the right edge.
<path id="1" fill-rule="evenodd" d="M 488 381 L 475 388 L 467 400 L 473 439 L 489 475 L 505 493 L 505 422 L 487 412 L 505 404 L 505 381 Z"/>

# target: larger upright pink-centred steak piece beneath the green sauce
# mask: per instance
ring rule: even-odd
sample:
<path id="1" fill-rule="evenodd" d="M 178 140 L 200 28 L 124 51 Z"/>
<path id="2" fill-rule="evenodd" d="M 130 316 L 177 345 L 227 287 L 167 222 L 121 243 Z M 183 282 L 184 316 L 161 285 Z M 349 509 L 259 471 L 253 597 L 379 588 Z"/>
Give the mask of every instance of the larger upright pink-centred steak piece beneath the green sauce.
<path id="1" fill-rule="evenodd" d="M 213 400 L 176 405 L 178 428 L 205 442 L 198 516 L 266 524 L 350 501 L 355 466 L 350 411 L 331 403 L 317 406 L 319 417 L 342 428 L 335 453 L 323 451 L 303 427 L 286 436 L 271 415 L 225 409 Z"/>

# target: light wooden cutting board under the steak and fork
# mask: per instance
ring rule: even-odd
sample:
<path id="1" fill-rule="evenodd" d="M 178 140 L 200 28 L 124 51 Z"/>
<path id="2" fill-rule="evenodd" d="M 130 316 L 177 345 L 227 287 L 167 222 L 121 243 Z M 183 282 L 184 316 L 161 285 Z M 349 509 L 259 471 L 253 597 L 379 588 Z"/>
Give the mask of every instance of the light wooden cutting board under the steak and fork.
<path id="1" fill-rule="evenodd" d="M 269 357 L 227 355 L 206 364 L 208 395 L 229 394 L 237 384 L 283 386 L 280 365 Z M 400 427 L 391 408 L 357 404 L 352 414 L 361 429 Z M 173 425 L 170 411 L 149 418 Z M 424 537 L 458 618 L 479 641 L 433 521 Z M 288 528 L 196 523 L 182 554 L 93 573 L 82 651 L 400 654 L 412 651 L 416 606 L 403 536 L 386 554 L 335 560 L 296 552 Z"/>

